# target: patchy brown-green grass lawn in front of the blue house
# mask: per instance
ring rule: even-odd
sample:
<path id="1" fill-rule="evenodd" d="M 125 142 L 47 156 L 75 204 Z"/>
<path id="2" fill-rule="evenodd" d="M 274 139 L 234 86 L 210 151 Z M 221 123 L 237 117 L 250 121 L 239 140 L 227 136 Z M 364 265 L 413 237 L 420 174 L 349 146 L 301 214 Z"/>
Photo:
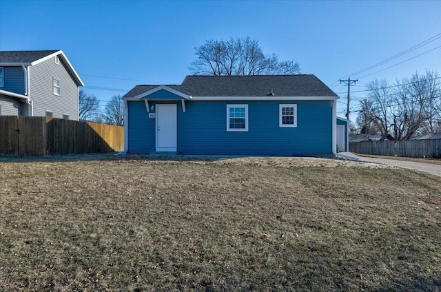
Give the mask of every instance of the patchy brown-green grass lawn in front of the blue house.
<path id="1" fill-rule="evenodd" d="M 0 164 L 1 291 L 440 291 L 441 178 L 338 160 Z"/>

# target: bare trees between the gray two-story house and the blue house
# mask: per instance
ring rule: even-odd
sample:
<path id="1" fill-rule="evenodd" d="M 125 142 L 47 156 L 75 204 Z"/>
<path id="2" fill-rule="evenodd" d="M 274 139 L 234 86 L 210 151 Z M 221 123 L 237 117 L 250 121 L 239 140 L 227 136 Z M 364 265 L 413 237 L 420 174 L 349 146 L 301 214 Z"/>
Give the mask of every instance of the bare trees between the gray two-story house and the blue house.
<path id="1" fill-rule="evenodd" d="M 122 126 L 124 123 L 124 103 L 121 95 L 114 95 L 101 109 L 94 95 L 79 92 L 79 120 Z"/>

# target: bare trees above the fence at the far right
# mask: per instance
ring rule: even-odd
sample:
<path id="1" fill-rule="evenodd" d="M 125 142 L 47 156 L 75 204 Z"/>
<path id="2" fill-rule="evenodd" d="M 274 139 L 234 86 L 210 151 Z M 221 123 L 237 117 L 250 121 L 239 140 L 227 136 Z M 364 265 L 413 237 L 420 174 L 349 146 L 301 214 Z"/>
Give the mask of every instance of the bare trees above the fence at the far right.
<path id="1" fill-rule="evenodd" d="M 361 134 L 391 134 L 396 140 L 441 132 L 441 76 L 427 70 L 389 83 L 367 83 L 356 118 Z"/>

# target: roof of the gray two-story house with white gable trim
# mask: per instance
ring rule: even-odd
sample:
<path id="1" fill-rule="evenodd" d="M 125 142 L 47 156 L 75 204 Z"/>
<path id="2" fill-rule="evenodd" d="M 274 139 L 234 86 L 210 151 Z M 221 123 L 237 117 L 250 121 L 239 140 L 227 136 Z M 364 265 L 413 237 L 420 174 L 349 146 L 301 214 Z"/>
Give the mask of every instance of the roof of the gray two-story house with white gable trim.
<path id="1" fill-rule="evenodd" d="M 80 76 L 69 62 L 62 50 L 43 51 L 0 51 L 0 66 L 33 66 L 53 56 L 59 56 L 65 63 L 68 71 L 78 86 L 84 86 Z"/>

